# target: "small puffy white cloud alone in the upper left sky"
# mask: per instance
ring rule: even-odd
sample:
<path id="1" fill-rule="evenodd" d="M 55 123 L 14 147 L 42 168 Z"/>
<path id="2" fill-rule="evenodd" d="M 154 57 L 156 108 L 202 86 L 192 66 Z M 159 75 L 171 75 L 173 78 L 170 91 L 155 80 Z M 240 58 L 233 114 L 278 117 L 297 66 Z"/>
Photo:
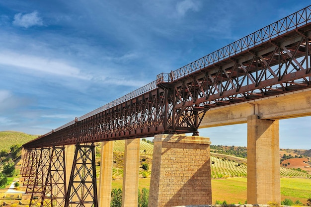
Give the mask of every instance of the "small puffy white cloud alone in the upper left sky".
<path id="1" fill-rule="evenodd" d="M 27 13 L 24 15 L 22 13 L 15 14 L 13 24 L 16 26 L 28 28 L 28 27 L 36 26 L 36 25 L 42 26 L 43 21 L 38 16 L 38 11 L 33 11 L 31 13 Z"/>

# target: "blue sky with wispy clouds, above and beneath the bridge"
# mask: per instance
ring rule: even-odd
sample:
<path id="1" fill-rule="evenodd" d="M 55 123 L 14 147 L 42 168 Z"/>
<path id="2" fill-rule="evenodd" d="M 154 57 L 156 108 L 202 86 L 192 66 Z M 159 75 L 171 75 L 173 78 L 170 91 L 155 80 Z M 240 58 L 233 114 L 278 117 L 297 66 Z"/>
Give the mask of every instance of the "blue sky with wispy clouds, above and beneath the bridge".
<path id="1" fill-rule="evenodd" d="M 48 133 L 309 3 L 0 1 L 0 131 Z M 311 148 L 310 120 L 281 120 L 280 147 Z M 236 146 L 246 134 L 246 125 L 200 133 Z"/>

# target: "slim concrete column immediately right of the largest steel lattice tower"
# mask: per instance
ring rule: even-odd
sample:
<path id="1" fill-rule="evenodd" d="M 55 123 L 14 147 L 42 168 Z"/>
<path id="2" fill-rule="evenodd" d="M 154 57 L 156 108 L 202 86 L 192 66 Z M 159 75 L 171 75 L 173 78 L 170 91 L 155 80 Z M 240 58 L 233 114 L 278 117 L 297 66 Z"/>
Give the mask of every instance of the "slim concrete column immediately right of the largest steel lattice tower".
<path id="1" fill-rule="evenodd" d="M 99 175 L 99 207 L 110 207 L 113 163 L 113 142 L 101 142 L 100 175 Z"/>

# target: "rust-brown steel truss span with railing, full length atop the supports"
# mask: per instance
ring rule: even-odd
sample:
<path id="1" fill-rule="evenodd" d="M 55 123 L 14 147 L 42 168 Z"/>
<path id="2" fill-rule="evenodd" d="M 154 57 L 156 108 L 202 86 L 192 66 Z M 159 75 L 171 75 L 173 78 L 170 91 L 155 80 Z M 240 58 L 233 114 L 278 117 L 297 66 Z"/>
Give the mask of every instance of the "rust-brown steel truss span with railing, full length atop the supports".
<path id="1" fill-rule="evenodd" d="M 193 133 L 207 110 L 311 87 L 311 6 L 23 145 Z"/>

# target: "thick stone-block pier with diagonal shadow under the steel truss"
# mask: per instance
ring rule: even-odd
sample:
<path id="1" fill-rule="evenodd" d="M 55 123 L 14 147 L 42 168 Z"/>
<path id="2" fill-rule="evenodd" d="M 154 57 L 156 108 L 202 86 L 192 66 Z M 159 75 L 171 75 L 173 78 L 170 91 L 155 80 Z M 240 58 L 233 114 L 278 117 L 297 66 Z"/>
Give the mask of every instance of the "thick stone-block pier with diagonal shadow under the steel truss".
<path id="1" fill-rule="evenodd" d="M 156 135 L 148 207 L 212 204 L 210 138 Z"/>

